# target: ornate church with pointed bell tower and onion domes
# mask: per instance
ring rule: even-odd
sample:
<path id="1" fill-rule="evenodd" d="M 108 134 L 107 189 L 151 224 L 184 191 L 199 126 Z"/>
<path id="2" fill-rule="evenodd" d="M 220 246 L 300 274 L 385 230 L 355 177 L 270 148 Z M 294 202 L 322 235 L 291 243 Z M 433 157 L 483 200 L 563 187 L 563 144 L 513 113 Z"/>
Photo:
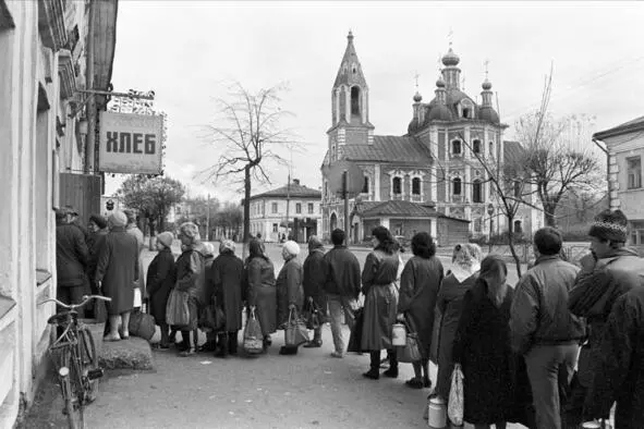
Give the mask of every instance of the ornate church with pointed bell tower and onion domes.
<path id="1" fill-rule="evenodd" d="M 461 90 L 459 62 L 450 48 L 442 57 L 443 68 L 430 102 L 423 102 L 416 91 L 408 134 L 375 135 L 369 122 L 369 87 L 353 35 L 349 34 L 331 90 L 331 127 L 327 131 L 328 150 L 321 168 L 325 236 L 349 216 L 350 236 L 354 242 L 364 240 L 374 221 L 373 205 L 382 201 L 408 203 L 390 205 L 387 211 L 399 212 L 381 216 L 377 222 L 396 235 L 411 237 L 415 231 L 429 231 L 437 236 L 439 218 L 469 221 L 469 235 L 473 236 L 507 230 L 488 172 L 502 171 L 503 164 L 523 148 L 503 139 L 507 125 L 493 107 L 494 93 L 487 78 L 482 85 L 481 103 Z M 351 201 L 349 213 L 344 213 L 342 201 L 329 187 L 329 167 L 340 160 L 353 161 L 364 173 L 362 193 Z M 491 216 L 489 210 L 494 210 Z M 416 222 L 412 226 L 409 221 L 391 223 L 391 219 Z M 532 234 L 542 224 L 538 210 L 522 206 L 512 226 Z"/>

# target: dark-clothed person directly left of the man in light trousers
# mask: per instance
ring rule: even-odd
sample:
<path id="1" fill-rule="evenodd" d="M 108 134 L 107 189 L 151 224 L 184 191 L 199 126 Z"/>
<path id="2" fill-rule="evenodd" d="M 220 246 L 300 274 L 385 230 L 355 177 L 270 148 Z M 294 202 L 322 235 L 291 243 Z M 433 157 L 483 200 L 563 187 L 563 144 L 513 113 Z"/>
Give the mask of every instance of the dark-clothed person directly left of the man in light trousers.
<path id="1" fill-rule="evenodd" d="M 327 314 L 327 296 L 324 291 L 327 275 L 328 263 L 325 260 L 325 246 L 320 240 L 312 235 L 308 238 L 308 256 L 304 261 L 304 310 L 311 314 L 317 311 L 319 315 L 319 326 L 313 329 L 313 340 L 304 344 L 304 347 L 321 346 L 321 327 L 323 318 Z"/>

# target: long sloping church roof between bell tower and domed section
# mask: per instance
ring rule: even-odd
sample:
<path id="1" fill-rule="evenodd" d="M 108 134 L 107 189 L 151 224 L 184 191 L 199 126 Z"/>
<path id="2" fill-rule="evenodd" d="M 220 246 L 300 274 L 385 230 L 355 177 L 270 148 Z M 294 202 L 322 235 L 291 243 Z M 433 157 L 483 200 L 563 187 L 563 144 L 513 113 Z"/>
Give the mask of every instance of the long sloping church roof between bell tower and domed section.
<path id="1" fill-rule="evenodd" d="M 352 161 L 405 162 L 427 166 L 433 162 L 429 149 L 410 136 L 374 136 L 372 145 L 345 145 L 344 155 Z"/>

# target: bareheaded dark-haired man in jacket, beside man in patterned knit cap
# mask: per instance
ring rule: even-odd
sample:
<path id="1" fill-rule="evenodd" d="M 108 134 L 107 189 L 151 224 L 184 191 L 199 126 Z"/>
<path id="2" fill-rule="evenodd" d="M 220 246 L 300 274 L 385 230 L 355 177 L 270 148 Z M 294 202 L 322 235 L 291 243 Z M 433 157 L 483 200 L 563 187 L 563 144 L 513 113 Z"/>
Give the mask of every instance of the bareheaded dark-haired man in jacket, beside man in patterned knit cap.
<path id="1" fill-rule="evenodd" d="M 535 266 L 517 285 L 510 316 L 512 348 L 525 356 L 538 429 L 561 428 L 560 390 L 572 378 L 585 330 L 568 310 L 579 269 L 561 260 L 561 233 L 534 235 Z"/>

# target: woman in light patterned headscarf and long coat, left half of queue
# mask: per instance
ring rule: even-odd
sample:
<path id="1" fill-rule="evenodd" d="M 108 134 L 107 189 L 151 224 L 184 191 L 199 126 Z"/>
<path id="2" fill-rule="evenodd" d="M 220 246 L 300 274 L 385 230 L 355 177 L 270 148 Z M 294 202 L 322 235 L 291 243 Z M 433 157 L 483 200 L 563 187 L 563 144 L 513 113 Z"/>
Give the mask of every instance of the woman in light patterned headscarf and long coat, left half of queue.
<path id="1" fill-rule="evenodd" d="M 190 322 L 180 327 L 183 343 L 180 346 L 180 356 L 190 356 L 195 353 L 198 345 L 197 322 L 199 309 L 204 305 L 206 289 L 205 250 L 201 241 L 199 230 L 193 222 L 182 223 L 179 228 L 183 253 L 177 259 L 177 283 L 174 287 L 189 294 Z M 193 344 L 190 342 L 190 333 L 193 332 Z"/>

